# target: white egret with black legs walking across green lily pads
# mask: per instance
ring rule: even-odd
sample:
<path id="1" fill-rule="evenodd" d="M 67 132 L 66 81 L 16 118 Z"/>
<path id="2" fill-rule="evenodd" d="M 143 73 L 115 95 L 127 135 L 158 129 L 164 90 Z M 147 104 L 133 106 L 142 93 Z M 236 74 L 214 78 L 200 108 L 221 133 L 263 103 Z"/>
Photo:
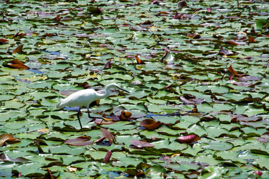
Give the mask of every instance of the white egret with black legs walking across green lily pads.
<path id="1" fill-rule="evenodd" d="M 74 93 L 70 94 L 68 97 L 62 99 L 60 102 L 58 102 L 56 104 L 56 107 L 62 108 L 64 106 L 79 106 L 79 111 L 78 111 L 77 116 L 78 116 L 80 127 L 82 128 L 80 118 L 79 118 L 79 113 L 80 113 L 81 107 L 83 107 L 83 106 L 87 107 L 89 118 L 102 118 L 102 117 L 91 117 L 90 112 L 89 112 L 89 105 L 93 101 L 96 101 L 99 99 L 104 99 L 104 98 L 108 97 L 110 95 L 111 88 L 122 89 L 121 87 L 119 87 L 119 85 L 117 85 L 115 83 L 108 85 L 105 89 L 106 93 L 104 93 L 104 94 L 98 93 L 94 89 L 82 89 L 82 90 L 74 92 Z M 122 89 L 122 90 L 130 93 L 129 91 L 127 91 L 125 89 Z"/>

